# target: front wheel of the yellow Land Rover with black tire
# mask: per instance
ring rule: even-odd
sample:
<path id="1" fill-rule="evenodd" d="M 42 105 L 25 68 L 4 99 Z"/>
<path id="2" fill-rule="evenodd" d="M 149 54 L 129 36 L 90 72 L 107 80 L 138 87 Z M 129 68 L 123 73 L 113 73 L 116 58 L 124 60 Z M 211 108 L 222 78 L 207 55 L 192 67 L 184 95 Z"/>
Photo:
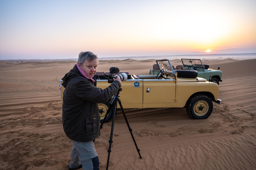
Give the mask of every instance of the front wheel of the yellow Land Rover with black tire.
<path id="1" fill-rule="evenodd" d="M 187 102 L 187 114 L 193 119 L 206 119 L 211 115 L 213 104 L 206 95 L 195 95 Z"/>

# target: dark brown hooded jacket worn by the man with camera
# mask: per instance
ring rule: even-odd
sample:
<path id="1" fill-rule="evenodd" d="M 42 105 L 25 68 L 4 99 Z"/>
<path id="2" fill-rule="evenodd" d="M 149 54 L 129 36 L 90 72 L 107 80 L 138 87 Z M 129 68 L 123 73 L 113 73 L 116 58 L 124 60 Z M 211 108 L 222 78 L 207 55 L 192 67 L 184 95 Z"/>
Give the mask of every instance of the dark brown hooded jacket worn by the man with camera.
<path id="1" fill-rule="evenodd" d="M 63 78 L 62 123 L 71 140 L 88 142 L 100 135 L 98 102 L 108 101 L 121 87 L 117 80 L 107 88 L 96 87 L 96 82 L 85 78 L 75 65 Z"/>

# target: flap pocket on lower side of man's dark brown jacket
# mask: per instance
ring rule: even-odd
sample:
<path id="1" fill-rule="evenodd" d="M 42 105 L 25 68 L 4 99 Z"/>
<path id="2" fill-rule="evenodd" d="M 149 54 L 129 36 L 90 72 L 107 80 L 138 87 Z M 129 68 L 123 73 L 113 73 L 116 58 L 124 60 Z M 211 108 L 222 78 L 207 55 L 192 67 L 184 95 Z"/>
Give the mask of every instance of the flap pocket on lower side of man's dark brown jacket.
<path id="1" fill-rule="evenodd" d="M 100 129 L 99 113 L 86 115 L 86 135 L 95 135 Z"/>

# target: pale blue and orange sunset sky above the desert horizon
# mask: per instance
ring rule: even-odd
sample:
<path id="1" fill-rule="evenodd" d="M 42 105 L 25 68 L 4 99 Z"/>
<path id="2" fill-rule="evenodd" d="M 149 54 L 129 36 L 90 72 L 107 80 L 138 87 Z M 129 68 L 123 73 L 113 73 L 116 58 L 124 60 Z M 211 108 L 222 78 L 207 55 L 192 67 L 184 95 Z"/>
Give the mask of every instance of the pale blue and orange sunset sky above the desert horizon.
<path id="1" fill-rule="evenodd" d="M 256 0 L 0 0 L 0 59 L 256 53 Z"/>

